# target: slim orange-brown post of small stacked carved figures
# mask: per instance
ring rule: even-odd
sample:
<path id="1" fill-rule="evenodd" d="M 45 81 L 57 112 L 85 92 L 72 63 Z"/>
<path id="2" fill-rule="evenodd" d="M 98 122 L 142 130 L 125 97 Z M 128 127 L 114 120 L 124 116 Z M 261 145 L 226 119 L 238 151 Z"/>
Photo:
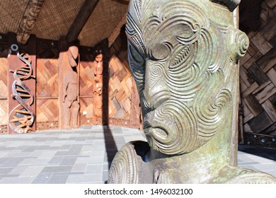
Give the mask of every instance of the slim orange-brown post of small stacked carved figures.
<path id="1" fill-rule="evenodd" d="M 103 54 L 101 50 L 96 50 L 96 57 L 93 64 L 93 111 L 96 117 L 102 117 L 103 112 Z"/>

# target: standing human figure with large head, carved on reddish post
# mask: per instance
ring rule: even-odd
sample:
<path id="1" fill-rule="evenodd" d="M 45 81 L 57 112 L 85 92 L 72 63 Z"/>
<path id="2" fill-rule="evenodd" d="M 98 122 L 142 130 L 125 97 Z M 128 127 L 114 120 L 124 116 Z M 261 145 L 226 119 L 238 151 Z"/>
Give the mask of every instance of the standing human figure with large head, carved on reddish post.
<path id="1" fill-rule="evenodd" d="M 79 127 L 79 76 L 76 70 L 79 64 L 78 47 L 69 47 L 67 55 L 70 68 L 63 76 L 64 86 L 62 102 L 64 110 L 64 129 Z"/>

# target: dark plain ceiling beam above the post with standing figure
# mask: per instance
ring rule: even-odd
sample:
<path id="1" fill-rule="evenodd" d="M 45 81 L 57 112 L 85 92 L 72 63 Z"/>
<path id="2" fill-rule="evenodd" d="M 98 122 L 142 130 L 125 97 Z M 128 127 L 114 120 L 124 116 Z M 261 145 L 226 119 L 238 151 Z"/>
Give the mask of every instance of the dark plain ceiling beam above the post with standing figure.
<path id="1" fill-rule="evenodd" d="M 79 13 L 76 15 L 76 18 L 71 24 L 71 28 L 65 37 L 67 42 L 74 42 L 78 38 L 79 33 L 81 33 L 82 28 L 84 28 L 86 21 L 88 20 L 89 16 L 91 16 L 91 13 L 97 4 L 98 0 L 84 1 L 84 4 L 81 6 Z"/>

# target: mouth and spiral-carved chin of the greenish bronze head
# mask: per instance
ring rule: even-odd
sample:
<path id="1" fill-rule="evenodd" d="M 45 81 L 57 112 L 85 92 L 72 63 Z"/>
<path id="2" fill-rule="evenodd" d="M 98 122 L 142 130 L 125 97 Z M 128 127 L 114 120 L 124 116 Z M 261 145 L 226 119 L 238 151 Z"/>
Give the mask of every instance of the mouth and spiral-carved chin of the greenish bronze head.
<path id="1" fill-rule="evenodd" d="M 167 100 L 144 117 L 144 133 L 154 150 L 179 155 L 195 149 L 197 124 L 187 106 Z"/>

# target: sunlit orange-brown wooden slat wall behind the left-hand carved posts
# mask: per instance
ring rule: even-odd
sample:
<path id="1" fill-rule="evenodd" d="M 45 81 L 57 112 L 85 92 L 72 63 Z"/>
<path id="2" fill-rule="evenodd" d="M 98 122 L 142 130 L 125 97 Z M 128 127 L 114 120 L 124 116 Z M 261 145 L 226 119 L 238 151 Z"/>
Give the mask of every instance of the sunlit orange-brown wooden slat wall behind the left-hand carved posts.
<path id="1" fill-rule="evenodd" d="M 8 55 L 7 42 L 0 40 L 0 133 L 7 133 L 8 124 L 8 88 L 7 68 Z M 4 50 L 6 47 L 6 50 Z M 81 47 L 80 64 L 80 126 L 101 124 L 101 117 L 93 115 L 93 47 Z M 5 51 L 5 52 L 4 52 Z M 107 59 L 109 67 L 107 78 L 109 88 L 105 107 L 108 104 L 108 124 L 125 127 L 140 127 L 139 96 L 130 69 L 127 63 L 127 50 L 116 50 Z M 59 105 L 58 105 L 58 41 L 37 39 L 36 59 L 36 129 L 59 128 Z M 107 111 L 106 111 L 107 112 Z"/>

